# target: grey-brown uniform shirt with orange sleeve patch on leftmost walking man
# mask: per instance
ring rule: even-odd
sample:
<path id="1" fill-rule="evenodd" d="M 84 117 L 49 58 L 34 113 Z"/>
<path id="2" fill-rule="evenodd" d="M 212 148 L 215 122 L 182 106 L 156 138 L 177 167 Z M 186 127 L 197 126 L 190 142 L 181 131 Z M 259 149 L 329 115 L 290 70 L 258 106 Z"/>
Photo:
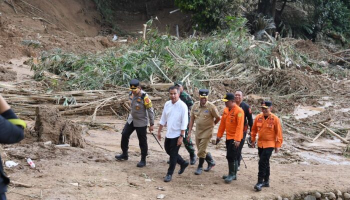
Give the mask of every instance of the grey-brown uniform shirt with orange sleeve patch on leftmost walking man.
<path id="1" fill-rule="evenodd" d="M 129 100 L 131 103 L 131 113 L 127 117 L 129 124 L 133 121 L 134 127 L 147 126 L 148 119 L 150 124 L 154 124 L 152 102 L 146 92 L 141 90 L 136 96 L 129 92 Z"/>

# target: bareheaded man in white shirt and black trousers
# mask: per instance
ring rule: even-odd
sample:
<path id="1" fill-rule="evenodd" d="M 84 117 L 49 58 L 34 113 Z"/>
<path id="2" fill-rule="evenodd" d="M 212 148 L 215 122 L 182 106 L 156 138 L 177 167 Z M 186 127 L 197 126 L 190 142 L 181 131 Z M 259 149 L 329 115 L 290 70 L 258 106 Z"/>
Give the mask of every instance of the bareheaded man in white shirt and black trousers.
<path id="1" fill-rule="evenodd" d="M 188 124 L 188 108 L 187 105 L 180 100 L 180 91 L 178 87 L 169 87 L 170 100 L 166 101 L 163 108 L 163 113 L 159 121 L 158 139 L 161 139 L 161 129 L 166 124 L 167 130 L 165 135 L 164 147 L 166 153 L 169 155 L 169 168 L 167 169 L 164 182 L 171 180 L 172 173 L 174 172 L 176 162 L 180 164 L 180 170 L 178 174 L 183 173 L 184 169 L 188 166 L 188 162 L 183 160 L 181 155 L 178 154 L 180 149 L 184 132 Z"/>

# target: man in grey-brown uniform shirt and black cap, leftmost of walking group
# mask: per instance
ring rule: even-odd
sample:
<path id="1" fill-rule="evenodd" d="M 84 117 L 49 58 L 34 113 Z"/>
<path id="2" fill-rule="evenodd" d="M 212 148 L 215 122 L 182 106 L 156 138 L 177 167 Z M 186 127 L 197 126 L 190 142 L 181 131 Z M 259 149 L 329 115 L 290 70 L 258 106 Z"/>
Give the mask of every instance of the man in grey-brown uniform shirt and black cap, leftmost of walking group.
<path id="1" fill-rule="evenodd" d="M 143 167 L 146 165 L 146 155 L 148 149 L 147 123 L 149 119 L 149 131 L 152 132 L 154 125 L 154 112 L 152 102 L 150 101 L 148 95 L 139 87 L 139 81 L 137 79 L 132 79 L 129 83 L 131 90 L 129 92 L 131 113 L 129 114 L 124 129 L 121 132 L 120 147 L 122 153 L 115 155 L 115 159 L 128 159 L 127 150 L 129 138 L 131 133 L 136 130 L 138 145 L 141 149 L 141 160 L 137 163 L 136 166 Z"/>

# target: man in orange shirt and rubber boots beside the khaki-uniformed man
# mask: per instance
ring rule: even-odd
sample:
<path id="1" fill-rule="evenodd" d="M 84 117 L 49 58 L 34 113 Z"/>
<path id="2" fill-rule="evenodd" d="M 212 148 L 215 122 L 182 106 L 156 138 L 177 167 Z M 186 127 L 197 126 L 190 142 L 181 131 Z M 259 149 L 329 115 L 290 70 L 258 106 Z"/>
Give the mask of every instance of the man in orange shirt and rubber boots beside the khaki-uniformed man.
<path id="1" fill-rule="evenodd" d="M 226 159 L 228 162 L 228 175 L 223 175 L 226 183 L 237 179 L 237 159 L 238 146 L 243 138 L 244 111 L 234 102 L 234 95 L 226 93 L 221 99 L 225 102 L 221 122 L 217 130 L 216 143 L 218 143 L 226 131 Z"/>

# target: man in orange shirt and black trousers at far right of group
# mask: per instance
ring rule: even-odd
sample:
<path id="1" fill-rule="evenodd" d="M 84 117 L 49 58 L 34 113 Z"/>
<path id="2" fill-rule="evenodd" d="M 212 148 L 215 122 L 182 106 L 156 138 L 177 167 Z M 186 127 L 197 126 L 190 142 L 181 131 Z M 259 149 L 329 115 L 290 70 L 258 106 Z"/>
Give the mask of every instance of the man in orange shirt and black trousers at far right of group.
<path id="1" fill-rule="evenodd" d="M 259 172 L 257 173 L 257 183 L 254 185 L 254 189 L 257 191 L 261 191 L 261 187 L 269 187 L 269 159 L 273 149 L 277 153 L 283 142 L 279 119 L 271 113 L 272 102 L 262 101 L 260 107 L 261 113 L 256 115 L 251 128 L 251 148 L 255 147 L 256 134 L 259 135 L 257 139 Z"/>

